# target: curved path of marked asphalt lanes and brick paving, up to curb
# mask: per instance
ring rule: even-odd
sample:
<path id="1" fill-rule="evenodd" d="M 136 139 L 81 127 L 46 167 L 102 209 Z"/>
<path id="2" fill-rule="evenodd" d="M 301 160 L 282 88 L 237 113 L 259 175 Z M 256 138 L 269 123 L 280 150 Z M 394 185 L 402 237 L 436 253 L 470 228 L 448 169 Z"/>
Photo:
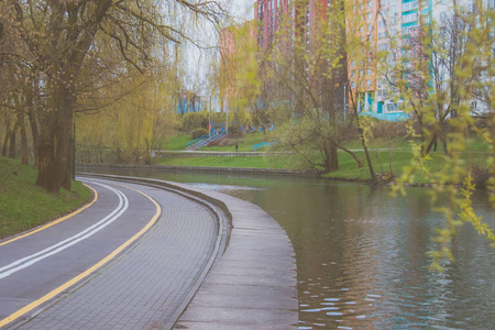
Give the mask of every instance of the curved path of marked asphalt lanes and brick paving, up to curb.
<path id="1" fill-rule="evenodd" d="M 0 326 L 172 328 L 211 263 L 218 219 L 160 188 L 84 182 L 94 205 L 0 242 Z"/>

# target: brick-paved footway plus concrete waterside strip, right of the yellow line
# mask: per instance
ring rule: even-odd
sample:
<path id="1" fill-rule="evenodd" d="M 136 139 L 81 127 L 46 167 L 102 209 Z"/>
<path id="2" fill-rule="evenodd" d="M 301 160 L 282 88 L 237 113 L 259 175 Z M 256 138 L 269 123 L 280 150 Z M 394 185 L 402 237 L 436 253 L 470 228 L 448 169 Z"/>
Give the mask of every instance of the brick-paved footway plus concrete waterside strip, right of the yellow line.
<path id="1" fill-rule="evenodd" d="M 135 180 L 147 186 L 125 186 L 143 190 L 163 208 L 156 224 L 105 270 L 12 329 L 170 329 L 179 317 L 176 329 L 296 328 L 294 252 L 271 217 L 222 194 Z M 206 205 L 189 199 L 198 197 Z M 231 230 L 218 219 L 219 209 L 230 212 Z"/>

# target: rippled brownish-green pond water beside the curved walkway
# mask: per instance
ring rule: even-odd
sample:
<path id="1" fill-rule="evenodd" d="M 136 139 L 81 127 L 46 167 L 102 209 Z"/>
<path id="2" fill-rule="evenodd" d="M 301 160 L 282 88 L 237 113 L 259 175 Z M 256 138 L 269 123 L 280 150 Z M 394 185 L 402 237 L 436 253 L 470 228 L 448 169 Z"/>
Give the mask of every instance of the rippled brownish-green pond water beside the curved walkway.
<path id="1" fill-rule="evenodd" d="M 113 173 L 193 184 L 268 212 L 296 252 L 299 329 L 495 329 L 495 249 L 465 224 L 455 263 L 430 273 L 442 219 L 426 188 L 393 198 L 387 187 L 294 177 Z M 487 198 L 474 204 L 494 228 Z"/>

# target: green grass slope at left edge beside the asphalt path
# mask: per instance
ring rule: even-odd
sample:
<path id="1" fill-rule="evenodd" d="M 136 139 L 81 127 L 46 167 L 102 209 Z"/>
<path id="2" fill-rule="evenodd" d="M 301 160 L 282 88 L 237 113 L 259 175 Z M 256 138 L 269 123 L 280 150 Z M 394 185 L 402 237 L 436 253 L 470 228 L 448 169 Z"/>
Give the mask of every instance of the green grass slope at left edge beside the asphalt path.
<path id="1" fill-rule="evenodd" d="M 79 182 L 73 182 L 73 191 L 45 191 L 34 186 L 36 176 L 31 166 L 0 157 L 0 239 L 68 213 L 91 198 Z"/>

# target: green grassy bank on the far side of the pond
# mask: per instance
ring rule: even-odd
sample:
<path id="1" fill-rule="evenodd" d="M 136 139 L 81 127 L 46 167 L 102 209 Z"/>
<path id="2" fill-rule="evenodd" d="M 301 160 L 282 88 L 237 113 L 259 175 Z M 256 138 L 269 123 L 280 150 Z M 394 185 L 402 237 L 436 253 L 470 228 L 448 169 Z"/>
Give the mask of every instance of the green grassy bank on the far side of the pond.
<path id="1" fill-rule="evenodd" d="M 250 146 L 264 141 L 263 133 L 252 133 L 244 135 L 244 140 L 239 142 L 239 150 L 250 151 Z M 365 162 L 364 152 L 361 142 L 352 141 L 345 145 L 350 150 L 356 150 L 355 154 L 363 162 L 364 166 L 359 167 L 356 162 L 345 152 L 339 152 L 339 169 L 323 177 L 327 178 L 340 178 L 340 179 L 353 179 L 353 180 L 367 180 L 370 179 L 370 172 Z M 403 173 L 403 168 L 411 164 L 411 146 L 410 142 L 406 139 L 376 139 L 371 142 L 371 157 L 375 173 L 386 173 L 392 169 L 396 177 L 399 177 Z M 205 147 L 201 150 L 209 151 L 233 151 L 233 146 L 215 146 Z M 488 145 L 480 140 L 473 140 L 471 142 L 471 161 L 473 164 L 477 164 L 482 167 L 486 167 L 486 158 Z M 431 172 L 443 170 L 446 164 L 446 157 L 443 155 L 442 146 L 439 144 L 437 152 L 430 153 L 431 160 L 427 162 Z M 463 156 L 468 163 L 466 155 Z M 175 165 L 175 166 L 205 166 L 205 167 L 250 167 L 250 168 L 302 168 L 309 169 L 310 167 L 305 161 L 297 155 L 292 156 L 265 156 L 265 157 L 163 157 L 155 158 L 155 165 Z M 417 184 L 429 183 L 429 179 L 422 173 L 416 173 L 414 182 Z"/>

